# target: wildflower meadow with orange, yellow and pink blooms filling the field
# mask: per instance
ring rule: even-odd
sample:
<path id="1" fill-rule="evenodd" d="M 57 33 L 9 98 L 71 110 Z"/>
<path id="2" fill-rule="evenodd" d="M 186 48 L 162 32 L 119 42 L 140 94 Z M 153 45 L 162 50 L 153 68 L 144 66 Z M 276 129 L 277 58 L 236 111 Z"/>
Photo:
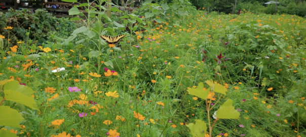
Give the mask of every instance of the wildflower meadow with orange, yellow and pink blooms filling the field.
<path id="1" fill-rule="evenodd" d="M 305 18 L 169 10 L 75 21 L 71 35 L 42 45 L 11 41 L 7 24 L 0 110 L 17 110 L 20 126 L 1 111 L 0 134 L 306 135 Z M 100 38 L 123 33 L 116 44 Z"/>

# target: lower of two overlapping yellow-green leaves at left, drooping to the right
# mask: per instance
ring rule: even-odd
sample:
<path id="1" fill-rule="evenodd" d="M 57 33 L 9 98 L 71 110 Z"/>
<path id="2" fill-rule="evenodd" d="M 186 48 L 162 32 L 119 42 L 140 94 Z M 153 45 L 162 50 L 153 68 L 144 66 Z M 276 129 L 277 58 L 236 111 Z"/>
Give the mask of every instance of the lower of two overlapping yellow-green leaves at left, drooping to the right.
<path id="1" fill-rule="evenodd" d="M 38 110 L 36 102 L 32 96 L 26 96 L 15 90 L 4 90 L 4 94 L 6 100 L 15 101 L 31 109 Z"/>

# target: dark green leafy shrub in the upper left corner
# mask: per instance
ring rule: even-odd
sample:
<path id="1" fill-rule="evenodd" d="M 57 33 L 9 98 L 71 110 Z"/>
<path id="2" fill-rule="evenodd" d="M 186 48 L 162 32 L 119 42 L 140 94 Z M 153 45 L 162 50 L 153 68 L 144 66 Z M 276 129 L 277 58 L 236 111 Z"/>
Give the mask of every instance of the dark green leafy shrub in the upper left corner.
<path id="1" fill-rule="evenodd" d="M 5 32 L 4 28 L 6 26 L 13 27 L 12 33 L 14 35 L 9 38 L 13 43 L 16 40 L 32 39 L 41 44 L 46 41 L 49 32 L 57 31 L 60 28 L 63 31 L 58 31 L 58 36 L 67 36 L 75 28 L 75 23 L 67 18 L 53 17 L 52 14 L 43 9 L 37 9 L 35 13 L 28 9 L 16 11 L 10 9 L 9 12 L 1 14 L 0 17 L 7 18 L 7 20 L 0 21 L 1 32 Z M 28 38 L 27 32 L 29 32 Z"/>

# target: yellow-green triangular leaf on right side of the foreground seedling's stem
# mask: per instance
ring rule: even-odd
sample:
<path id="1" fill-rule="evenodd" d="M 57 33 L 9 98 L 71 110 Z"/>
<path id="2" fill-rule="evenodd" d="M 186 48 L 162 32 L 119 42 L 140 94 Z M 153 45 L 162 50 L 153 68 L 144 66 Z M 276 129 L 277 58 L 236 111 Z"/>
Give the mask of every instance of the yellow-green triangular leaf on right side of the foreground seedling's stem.
<path id="1" fill-rule="evenodd" d="M 235 119 L 239 116 L 240 113 L 234 108 L 232 99 L 226 100 L 216 112 L 218 119 Z"/>

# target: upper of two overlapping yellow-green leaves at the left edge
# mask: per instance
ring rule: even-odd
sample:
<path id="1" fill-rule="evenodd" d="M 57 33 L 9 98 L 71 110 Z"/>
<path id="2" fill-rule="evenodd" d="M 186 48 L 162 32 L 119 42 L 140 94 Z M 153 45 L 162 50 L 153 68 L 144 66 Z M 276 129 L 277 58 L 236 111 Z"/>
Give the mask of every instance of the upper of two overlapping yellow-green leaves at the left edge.
<path id="1" fill-rule="evenodd" d="M 25 96 L 32 97 L 34 91 L 28 86 L 20 85 L 18 81 L 11 81 L 5 84 L 4 90 L 14 90 L 16 92 L 22 93 Z"/>

